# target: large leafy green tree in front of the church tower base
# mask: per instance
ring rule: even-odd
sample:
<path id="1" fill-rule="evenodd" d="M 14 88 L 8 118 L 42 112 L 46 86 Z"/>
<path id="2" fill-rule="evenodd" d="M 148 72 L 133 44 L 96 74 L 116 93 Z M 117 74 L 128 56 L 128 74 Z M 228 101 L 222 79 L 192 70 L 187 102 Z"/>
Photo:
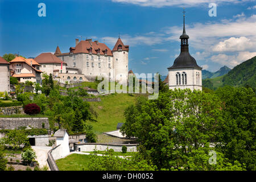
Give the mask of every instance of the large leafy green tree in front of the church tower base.
<path id="1" fill-rule="evenodd" d="M 138 138 L 144 158 L 158 169 L 189 170 L 192 151 L 208 155 L 209 143 L 219 135 L 222 103 L 214 94 L 169 90 L 157 100 L 139 98 L 126 109 L 125 118 L 121 132 Z"/>

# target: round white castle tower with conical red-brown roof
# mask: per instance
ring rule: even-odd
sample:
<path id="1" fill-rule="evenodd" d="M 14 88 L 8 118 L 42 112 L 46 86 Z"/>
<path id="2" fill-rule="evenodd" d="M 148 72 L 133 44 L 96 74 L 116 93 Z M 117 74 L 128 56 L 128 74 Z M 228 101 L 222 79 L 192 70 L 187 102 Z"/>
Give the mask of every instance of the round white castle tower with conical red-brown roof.
<path id="1" fill-rule="evenodd" d="M 112 50 L 115 81 L 120 84 L 128 80 L 128 53 L 129 46 L 125 46 L 120 39 Z"/>

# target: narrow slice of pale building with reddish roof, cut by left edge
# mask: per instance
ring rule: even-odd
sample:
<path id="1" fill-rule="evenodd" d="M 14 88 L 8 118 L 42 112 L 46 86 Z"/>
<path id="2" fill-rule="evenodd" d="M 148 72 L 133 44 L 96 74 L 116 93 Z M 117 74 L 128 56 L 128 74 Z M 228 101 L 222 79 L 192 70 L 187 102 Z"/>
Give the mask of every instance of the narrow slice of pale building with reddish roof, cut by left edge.
<path id="1" fill-rule="evenodd" d="M 10 92 L 10 63 L 0 56 L 0 92 Z"/>

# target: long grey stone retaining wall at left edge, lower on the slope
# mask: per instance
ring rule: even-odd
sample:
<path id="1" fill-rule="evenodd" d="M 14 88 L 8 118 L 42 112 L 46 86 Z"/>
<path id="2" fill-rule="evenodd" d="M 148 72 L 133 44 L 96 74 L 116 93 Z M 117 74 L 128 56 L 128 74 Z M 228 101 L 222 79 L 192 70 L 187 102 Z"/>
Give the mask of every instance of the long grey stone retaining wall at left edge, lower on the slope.
<path id="1" fill-rule="evenodd" d="M 22 126 L 30 126 L 36 129 L 49 129 L 48 118 L 0 118 L 0 129 L 14 130 Z"/>

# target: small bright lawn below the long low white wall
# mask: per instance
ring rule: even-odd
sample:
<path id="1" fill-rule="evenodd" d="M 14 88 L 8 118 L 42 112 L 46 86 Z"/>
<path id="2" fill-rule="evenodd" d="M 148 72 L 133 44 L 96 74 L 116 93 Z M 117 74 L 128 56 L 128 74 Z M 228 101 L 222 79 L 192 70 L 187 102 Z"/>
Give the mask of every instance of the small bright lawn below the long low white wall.
<path id="1" fill-rule="evenodd" d="M 66 158 L 56 160 L 60 171 L 83 171 L 87 170 L 89 155 L 71 154 Z"/>

